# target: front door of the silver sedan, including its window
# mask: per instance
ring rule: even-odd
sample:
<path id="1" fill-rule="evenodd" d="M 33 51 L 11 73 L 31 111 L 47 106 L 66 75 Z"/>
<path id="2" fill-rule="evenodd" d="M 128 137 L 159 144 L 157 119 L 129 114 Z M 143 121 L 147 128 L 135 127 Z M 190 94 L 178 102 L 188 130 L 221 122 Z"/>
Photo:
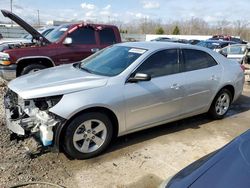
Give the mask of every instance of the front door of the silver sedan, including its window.
<path id="1" fill-rule="evenodd" d="M 159 123 L 180 114 L 183 87 L 178 76 L 178 50 L 156 52 L 135 73 L 148 74 L 152 79 L 125 84 L 128 130 Z"/>

